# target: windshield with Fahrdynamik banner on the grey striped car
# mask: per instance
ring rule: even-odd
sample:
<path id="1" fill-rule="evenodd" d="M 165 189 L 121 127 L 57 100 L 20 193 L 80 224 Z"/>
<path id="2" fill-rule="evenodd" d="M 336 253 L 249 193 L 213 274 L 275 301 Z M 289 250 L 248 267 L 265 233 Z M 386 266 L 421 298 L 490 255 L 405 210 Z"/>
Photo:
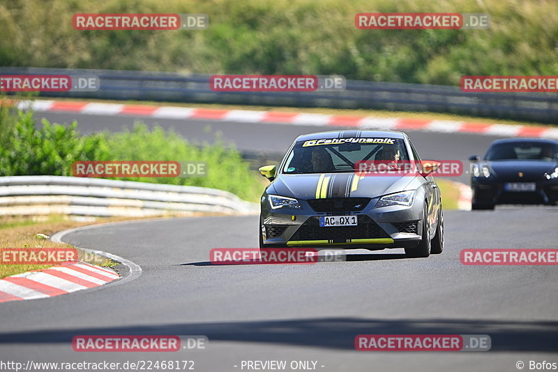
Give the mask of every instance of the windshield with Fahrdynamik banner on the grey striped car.
<path id="1" fill-rule="evenodd" d="M 359 161 L 407 161 L 400 138 L 335 138 L 296 142 L 283 173 L 354 172 Z"/>

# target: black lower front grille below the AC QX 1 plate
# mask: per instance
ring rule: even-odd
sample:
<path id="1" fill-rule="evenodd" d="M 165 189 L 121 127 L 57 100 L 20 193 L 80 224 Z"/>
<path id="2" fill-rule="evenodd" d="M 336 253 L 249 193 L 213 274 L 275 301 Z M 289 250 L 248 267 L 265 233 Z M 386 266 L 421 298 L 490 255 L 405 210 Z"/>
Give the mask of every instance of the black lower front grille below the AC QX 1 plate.
<path id="1" fill-rule="evenodd" d="M 296 230 L 290 240 L 333 240 L 345 243 L 347 239 L 389 238 L 389 235 L 368 216 L 358 216 L 356 226 L 322 228 L 319 217 L 311 217 Z"/>

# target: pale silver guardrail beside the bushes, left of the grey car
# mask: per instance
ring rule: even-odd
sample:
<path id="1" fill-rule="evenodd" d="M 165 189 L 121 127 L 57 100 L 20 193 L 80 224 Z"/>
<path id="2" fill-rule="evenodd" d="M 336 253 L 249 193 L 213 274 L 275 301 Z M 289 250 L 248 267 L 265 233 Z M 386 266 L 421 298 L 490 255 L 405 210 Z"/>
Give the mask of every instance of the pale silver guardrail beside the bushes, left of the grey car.
<path id="1" fill-rule="evenodd" d="M 257 204 L 197 186 L 61 176 L 0 177 L 0 216 L 253 214 Z"/>

